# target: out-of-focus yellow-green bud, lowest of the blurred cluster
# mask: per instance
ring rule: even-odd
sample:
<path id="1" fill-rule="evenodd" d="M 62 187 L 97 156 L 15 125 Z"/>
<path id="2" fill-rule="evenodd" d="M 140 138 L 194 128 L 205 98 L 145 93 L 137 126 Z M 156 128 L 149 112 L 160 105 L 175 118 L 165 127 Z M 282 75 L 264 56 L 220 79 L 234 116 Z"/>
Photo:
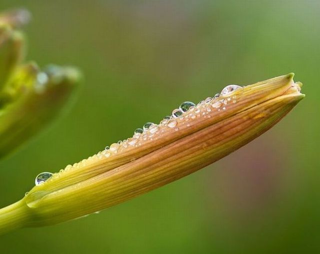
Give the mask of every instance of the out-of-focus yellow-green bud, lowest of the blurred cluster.
<path id="1" fill-rule="evenodd" d="M 0 157 L 55 119 L 79 78 L 79 72 L 71 67 L 54 67 L 46 72 L 34 64 L 19 68 L 5 87 L 9 102 L 0 109 Z"/>

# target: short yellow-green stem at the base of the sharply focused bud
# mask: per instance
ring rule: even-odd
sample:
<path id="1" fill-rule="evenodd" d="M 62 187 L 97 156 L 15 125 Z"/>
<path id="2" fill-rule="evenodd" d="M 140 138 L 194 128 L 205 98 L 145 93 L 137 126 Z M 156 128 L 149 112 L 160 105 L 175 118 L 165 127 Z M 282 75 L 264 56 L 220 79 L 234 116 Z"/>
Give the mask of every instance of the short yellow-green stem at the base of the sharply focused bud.
<path id="1" fill-rule="evenodd" d="M 25 225 L 28 217 L 26 208 L 25 202 L 19 200 L 0 209 L 0 235 Z"/>

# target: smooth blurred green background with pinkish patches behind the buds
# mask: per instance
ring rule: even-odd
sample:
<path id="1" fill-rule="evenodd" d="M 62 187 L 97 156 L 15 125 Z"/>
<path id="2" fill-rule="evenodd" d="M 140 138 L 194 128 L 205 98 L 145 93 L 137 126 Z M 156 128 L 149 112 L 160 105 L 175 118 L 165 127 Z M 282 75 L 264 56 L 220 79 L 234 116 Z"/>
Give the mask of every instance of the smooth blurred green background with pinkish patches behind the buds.
<path id="1" fill-rule="evenodd" d="M 270 131 L 99 214 L 20 229 L 0 253 L 319 253 L 320 1 L 0 0 L 24 7 L 27 60 L 78 66 L 76 103 L 0 161 L 0 207 L 226 84 L 295 72 L 306 97 Z"/>

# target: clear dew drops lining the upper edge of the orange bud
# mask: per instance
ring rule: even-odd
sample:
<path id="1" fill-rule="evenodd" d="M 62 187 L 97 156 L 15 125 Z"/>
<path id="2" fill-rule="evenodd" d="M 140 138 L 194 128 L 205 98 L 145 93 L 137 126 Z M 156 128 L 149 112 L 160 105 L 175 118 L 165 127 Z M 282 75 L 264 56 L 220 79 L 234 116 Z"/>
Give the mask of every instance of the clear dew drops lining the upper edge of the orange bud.
<path id="1" fill-rule="evenodd" d="M 222 89 L 221 93 L 215 94 L 213 98 L 208 97 L 205 100 L 200 101 L 197 105 L 192 102 L 183 102 L 178 109 L 174 109 L 172 111 L 171 116 L 165 116 L 159 124 L 147 122 L 143 125 L 142 128 L 137 128 L 134 131 L 133 137 L 123 141 L 118 141 L 117 143 L 113 143 L 110 146 L 106 146 L 103 151 L 100 151 L 97 154 L 80 161 L 79 163 L 74 163 L 72 166 L 67 165 L 65 169 L 61 169 L 60 172 L 69 170 L 70 168 L 79 168 L 81 166 L 84 166 L 88 161 L 96 158 L 102 159 L 105 157 L 110 157 L 112 154 L 117 154 L 127 147 L 138 147 L 145 140 L 152 141 L 153 138 L 158 138 L 161 135 L 161 132 L 164 132 L 165 128 L 160 127 L 166 126 L 169 129 L 178 131 L 178 119 L 184 119 L 184 122 L 187 122 L 189 119 L 195 119 L 196 117 L 200 116 L 210 117 L 209 112 L 211 112 L 212 110 L 225 110 L 228 103 L 236 103 L 236 96 L 232 96 L 231 93 L 237 89 L 242 89 L 242 87 L 238 85 L 228 85 Z M 223 96 L 222 99 L 219 98 L 220 95 Z M 186 126 L 190 126 L 190 124 L 187 123 Z M 39 185 L 45 182 L 47 179 L 52 177 L 52 175 L 54 174 L 49 172 L 42 172 L 38 174 L 35 177 L 35 185 Z"/>

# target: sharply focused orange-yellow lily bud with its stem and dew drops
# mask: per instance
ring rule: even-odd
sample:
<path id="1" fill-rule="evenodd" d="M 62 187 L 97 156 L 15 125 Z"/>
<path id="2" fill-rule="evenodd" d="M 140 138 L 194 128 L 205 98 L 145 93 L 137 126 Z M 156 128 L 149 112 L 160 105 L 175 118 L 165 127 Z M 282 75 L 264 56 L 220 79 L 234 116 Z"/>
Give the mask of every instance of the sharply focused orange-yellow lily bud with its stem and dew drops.
<path id="1" fill-rule="evenodd" d="M 151 191 L 230 154 L 271 128 L 303 97 L 293 74 L 226 86 L 184 102 L 159 124 L 68 165 L 40 173 L 18 202 L 0 209 L 0 233 L 81 217 Z"/>

